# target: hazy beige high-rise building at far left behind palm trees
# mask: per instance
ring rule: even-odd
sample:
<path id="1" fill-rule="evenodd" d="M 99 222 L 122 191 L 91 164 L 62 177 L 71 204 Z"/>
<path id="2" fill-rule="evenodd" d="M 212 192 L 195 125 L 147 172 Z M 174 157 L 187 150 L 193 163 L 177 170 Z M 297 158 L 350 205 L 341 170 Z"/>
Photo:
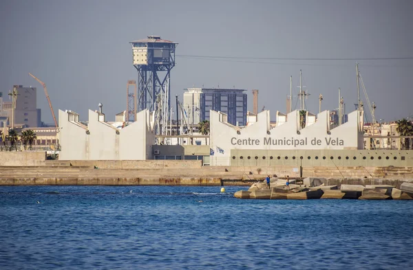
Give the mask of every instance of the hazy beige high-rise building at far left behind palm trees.
<path id="1" fill-rule="evenodd" d="M 14 120 L 12 120 L 12 101 L 5 102 L 6 94 L 0 95 L 0 116 L 7 116 L 9 126 L 27 125 L 29 127 L 41 126 L 41 109 L 37 109 L 36 87 L 23 87 L 14 85 L 17 95 L 14 97 Z M 11 100 L 11 96 L 10 96 Z"/>

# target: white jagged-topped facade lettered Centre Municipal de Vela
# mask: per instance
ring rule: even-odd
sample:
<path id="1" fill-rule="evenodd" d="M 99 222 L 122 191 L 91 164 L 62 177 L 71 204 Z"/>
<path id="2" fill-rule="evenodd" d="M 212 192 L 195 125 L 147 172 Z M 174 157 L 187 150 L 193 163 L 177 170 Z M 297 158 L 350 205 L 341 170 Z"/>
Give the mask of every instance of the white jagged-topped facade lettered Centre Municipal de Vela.
<path id="1" fill-rule="evenodd" d="M 284 122 L 271 128 L 270 112 L 262 111 L 257 122 L 242 128 L 225 121 L 224 113 L 211 111 L 211 165 L 230 165 L 231 150 L 354 150 L 363 149 L 363 117 L 359 111 L 348 115 L 348 122 L 330 129 L 329 111 L 306 115 L 301 128 L 299 111 L 279 115 Z M 278 118 L 278 117 L 277 117 Z M 277 119 L 278 121 L 278 119 Z M 211 151 L 212 152 L 212 151 Z"/>

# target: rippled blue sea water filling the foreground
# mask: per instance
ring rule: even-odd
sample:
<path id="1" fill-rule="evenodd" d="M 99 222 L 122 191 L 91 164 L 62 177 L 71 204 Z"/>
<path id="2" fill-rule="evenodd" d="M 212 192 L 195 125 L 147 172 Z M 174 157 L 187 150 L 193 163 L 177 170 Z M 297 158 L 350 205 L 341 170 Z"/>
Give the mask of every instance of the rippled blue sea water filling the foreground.
<path id="1" fill-rule="evenodd" d="M 241 189 L 0 187 L 0 269 L 413 266 L 413 201 L 233 198 Z"/>

